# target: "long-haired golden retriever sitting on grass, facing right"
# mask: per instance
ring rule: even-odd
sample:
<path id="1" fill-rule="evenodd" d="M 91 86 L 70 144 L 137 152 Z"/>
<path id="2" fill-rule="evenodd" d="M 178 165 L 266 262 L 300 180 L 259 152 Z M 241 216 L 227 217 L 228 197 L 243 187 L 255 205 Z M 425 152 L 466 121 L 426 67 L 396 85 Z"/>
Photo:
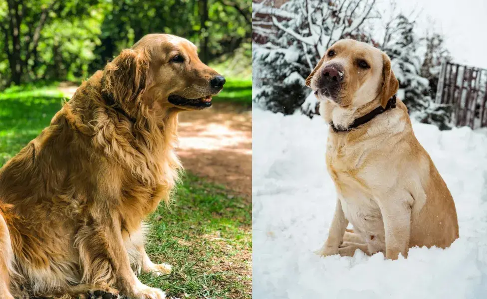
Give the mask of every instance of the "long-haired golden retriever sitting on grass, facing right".
<path id="1" fill-rule="evenodd" d="M 224 83 L 168 34 L 84 82 L 0 170 L 0 298 L 165 298 L 136 276 L 171 271 L 149 260 L 144 218 L 178 180 L 178 113 L 210 107 Z"/>

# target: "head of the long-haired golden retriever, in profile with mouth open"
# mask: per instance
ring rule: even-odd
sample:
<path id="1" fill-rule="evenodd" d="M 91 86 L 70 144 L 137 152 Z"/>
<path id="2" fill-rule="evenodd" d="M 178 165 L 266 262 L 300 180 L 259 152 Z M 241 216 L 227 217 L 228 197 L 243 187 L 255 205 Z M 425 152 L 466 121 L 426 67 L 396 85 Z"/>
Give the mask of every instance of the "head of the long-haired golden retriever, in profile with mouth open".
<path id="1" fill-rule="evenodd" d="M 198 58 L 196 46 L 169 34 L 148 34 L 103 70 L 102 93 L 126 111 L 210 107 L 225 78 Z"/>

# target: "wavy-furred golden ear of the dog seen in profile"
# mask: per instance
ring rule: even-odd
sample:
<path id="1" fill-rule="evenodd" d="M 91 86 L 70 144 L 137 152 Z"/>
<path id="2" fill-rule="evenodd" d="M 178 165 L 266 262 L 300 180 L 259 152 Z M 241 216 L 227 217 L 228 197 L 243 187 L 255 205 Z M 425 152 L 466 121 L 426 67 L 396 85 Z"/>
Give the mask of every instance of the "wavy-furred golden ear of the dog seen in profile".
<path id="1" fill-rule="evenodd" d="M 143 93 L 148 70 L 149 61 L 144 52 L 125 49 L 103 69 L 102 93 L 125 106 Z"/>

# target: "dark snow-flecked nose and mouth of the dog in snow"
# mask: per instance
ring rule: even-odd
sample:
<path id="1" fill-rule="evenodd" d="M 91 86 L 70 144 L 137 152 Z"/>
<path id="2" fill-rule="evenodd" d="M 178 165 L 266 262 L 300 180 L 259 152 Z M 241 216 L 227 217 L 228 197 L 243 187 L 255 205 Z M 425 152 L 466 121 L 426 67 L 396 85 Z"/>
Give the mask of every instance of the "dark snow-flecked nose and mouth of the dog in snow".
<path id="1" fill-rule="evenodd" d="M 316 95 L 330 98 L 335 103 L 340 102 L 340 90 L 344 79 L 343 67 L 339 64 L 333 63 L 324 66 L 316 80 Z"/>

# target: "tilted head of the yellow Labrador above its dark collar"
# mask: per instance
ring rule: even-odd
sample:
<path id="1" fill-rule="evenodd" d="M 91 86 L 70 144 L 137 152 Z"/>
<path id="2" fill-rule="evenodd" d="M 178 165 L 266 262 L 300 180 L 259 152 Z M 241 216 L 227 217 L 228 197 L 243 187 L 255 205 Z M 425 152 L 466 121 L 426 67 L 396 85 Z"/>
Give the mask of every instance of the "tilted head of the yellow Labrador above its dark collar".
<path id="1" fill-rule="evenodd" d="M 383 107 L 399 82 L 391 60 L 364 42 L 342 39 L 333 44 L 306 79 L 320 101 L 341 107 L 361 107 L 380 96 Z"/>

